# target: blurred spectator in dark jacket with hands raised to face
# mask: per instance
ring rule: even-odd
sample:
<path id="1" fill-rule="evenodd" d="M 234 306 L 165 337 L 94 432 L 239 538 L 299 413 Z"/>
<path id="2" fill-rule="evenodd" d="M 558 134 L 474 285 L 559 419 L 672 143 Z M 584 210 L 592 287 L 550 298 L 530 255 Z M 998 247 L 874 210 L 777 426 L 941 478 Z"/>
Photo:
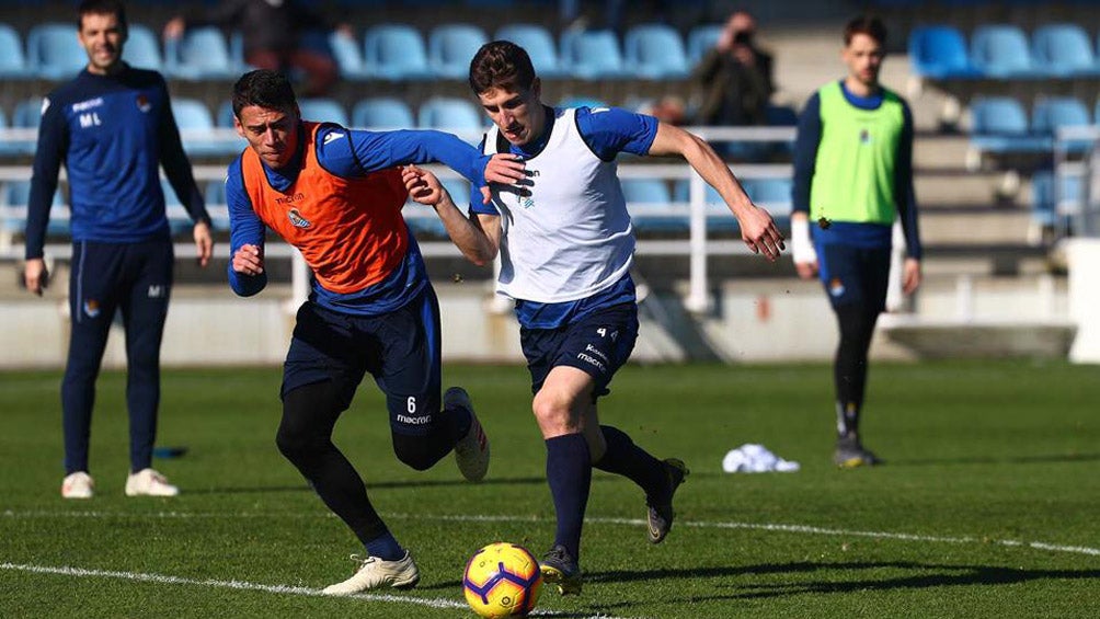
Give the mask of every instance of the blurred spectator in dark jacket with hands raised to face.
<path id="1" fill-rule="evenodd" d="M 694 124 L 768 124 L 768 101 L 774 91 L 771 55 L 756 46 L 756 20 L 737 11 L 714 48 L 692 71 L 703 90 Z"/>

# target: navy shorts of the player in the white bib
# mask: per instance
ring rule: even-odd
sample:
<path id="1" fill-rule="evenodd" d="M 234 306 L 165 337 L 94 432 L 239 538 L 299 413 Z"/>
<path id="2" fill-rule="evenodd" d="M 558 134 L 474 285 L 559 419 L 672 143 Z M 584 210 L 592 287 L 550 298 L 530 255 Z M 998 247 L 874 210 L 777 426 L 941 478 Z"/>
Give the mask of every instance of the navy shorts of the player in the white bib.
<path id="1" fill-rule="evenodd" d="M 606 396 L 612 377 L 630 358 L 638 339 L 638 306 L 620 303 L 594 311 L 557 329 L 519 330 L 519 343 L 538 394 L 550 371 L 568 365 L 595 380 L 593 398 Z"/>

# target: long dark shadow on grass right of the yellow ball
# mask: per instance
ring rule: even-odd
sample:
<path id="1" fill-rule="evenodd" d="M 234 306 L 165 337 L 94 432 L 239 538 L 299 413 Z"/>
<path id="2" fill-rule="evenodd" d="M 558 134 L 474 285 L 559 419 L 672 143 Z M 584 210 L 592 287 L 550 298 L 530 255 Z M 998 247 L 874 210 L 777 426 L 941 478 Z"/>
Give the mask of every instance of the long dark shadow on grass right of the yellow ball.
<path id="1" fill-rule="evenodd" d="M 857 577 L 843 581 L 845 576 L 866 570 L 902 570 L 919 572 L 911 576 Z M 766 583 L 761 578 L 768 574 L 790 575 L 827 572 L 829 581 L 814 581 L 807 577 L 796 583 Z M 1018 570 L 991 565 L 937 565 L 913 562 L 872 563 L 784 563 L 746 565 L 739 567 L 705 567 L 698 570 L 653 570 L 648 572 L 615 571 L 591 573 L 585 579 L 593 583 L 629 583 L 635 581 L 658 582 L 672 578 L 698 579 L 745 577 L 749 582 L 716 584 L 716 588 L 741 589 L 729 595 L 692 597 L 691 600 L 754 599 L 784 597 L 802 594 L 843 594 L 860 590 L 921 589 L 931 587 L 970 585 L 1015 585 L 1032 581 L 1075 581 L 1100 578 L 1100 570 Z M 757 582 L 751 582 L 757 581 Z M 689 600 L 666 600 L 668 603 Z"/>

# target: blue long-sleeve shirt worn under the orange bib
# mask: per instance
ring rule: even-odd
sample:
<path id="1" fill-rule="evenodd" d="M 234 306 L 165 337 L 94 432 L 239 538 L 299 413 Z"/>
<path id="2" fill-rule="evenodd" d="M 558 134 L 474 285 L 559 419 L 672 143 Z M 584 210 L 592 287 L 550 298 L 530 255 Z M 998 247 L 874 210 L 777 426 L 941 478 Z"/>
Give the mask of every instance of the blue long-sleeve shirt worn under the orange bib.
<path id="1" fill-rule="evenodd" d="M 267 183 L 277 190 L 289 189 L 305 161 L 305 133 L 298 128 L 298 150 L 280 169 L 264 167 Z M 399 165 L 440 162 L 471 183 L 485 185 L 490 157 L 449 133 L 439 131 L 350 131 L 326 124 L 317 132 L 317 162 L 329 174 L 354 178 Z M 244 187 L 241 157 L 229 166 L 226 201 L 230 215 L 230 255 L 243 245 L 263 247 L 265 225 L 252 207 Z M 267 285 L 266 274 L 244 275 L 229 265 L 229 285 L 241 296 L 252 296 Z M 385 279 L 363 290 L 339 294 L 314 283 L 311 298 L 319 305 L 345 313 L 378 314 L 399 308 L 422 289 L 428 278 L 420 251 L 411 234 L 405 261 Z"/>

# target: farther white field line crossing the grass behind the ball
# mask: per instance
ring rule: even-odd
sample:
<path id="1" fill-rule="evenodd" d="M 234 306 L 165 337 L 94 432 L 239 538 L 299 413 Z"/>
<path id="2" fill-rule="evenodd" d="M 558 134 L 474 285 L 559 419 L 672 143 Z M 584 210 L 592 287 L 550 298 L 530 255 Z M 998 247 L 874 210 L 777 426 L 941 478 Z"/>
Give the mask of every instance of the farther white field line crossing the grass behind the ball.
<path id="1" fill-rule="evenodd" d="M 3 518 L 165 518 L 165 519 L 189 519 L 189 518 L 334 518 L 328 513 L 258 513 L 258 512 L 187 512 L 187 511 L 158 511 L 158 512 L 105 512 L 105 511 L 13 511 L 0 512 Z M 415 520 L 439 520 L 450 522 L 550 522 L 548 518 L 522 517 L 522 516 L 440 516 L 421 513 L 386 513 L 386 518 L 403 518 Z M 645 527 L 646 521 L 632 518 L 585 518 L 585 523 L 591 524 L 625 524 L 630 527 Z M 974 537 L 944 537 L 923 535 L 915 533 L 894 533 L 889 531 L 855 531 L 848 529 L 826 529 L 823 527 L 812 527 L 809 524 L 779 524 L 768 522 L 705 522 L 705 521 L 676 521 L 680 527 L 691 527 L 694 529 L 748 529 L 756 531 L 776 531 L 781 533 L 802 533 L 807 535 L 833 535 L 854 538 L 875 538 L 883 540 L 902 540 L 911 542 L 932 542 L 948 544 L 997 544 L 1011 548 L 1030 548 L 1048 552 L 1064 552 L 1071 554 L 1087 554 L 1100 556 L 1100 549 L 1090 546 L 1071 546 L 1063 544 L 1052 544 L 1037 541 L 1020 540 L 994 540 L 989 538 Z M 404 599 L 404 598 L 403 598 Z"/>

